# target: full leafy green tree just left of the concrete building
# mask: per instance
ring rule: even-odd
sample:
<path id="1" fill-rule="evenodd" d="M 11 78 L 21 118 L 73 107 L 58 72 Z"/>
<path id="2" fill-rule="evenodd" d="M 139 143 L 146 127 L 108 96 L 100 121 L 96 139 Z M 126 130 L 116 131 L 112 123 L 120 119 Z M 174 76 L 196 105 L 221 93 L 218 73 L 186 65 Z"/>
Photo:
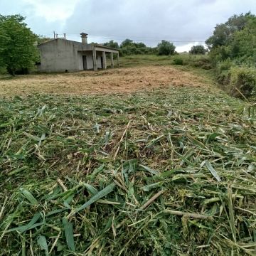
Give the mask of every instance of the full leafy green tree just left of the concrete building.
<path id="1" fill-rule="evenodd" d="M 38 59 L 34 46 L 36 35 L 24 23 L 20 15 L 0 15 L 0 66 L 15 75 L 33 68 Z"/>

